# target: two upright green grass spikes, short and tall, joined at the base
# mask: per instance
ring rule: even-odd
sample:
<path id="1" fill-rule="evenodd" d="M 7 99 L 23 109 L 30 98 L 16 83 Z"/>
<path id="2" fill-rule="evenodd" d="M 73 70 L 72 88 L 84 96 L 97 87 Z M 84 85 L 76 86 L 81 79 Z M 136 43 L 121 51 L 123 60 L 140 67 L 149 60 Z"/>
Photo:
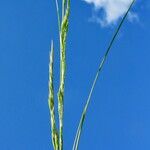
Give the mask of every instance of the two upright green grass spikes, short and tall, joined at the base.
<path id="1" fill-rule="evenodd" d="M 63 150 L 63 116 L 64 116 L 64 91 L 65 91 L 65 75 L 66 75 L 66 39 L 68 33 L 69 15 L 70 15 L 70 0 L 62 1 L 62 17 L 60 17 L 59 3 L 55 0 L 56 11 L 59 28 L 59 45 L 60 45 L 60 83 L 57 93 L 58 98 L 58 116 L 59 116 L 59 131 L 56 128 L 55 112 L 54 112 L 54 89 L 53 89 L 53 42 L 50 54 L 49 67 L 49 108 L 51 115 L 51 132 L 52 143 L 54 150 Z"/>

